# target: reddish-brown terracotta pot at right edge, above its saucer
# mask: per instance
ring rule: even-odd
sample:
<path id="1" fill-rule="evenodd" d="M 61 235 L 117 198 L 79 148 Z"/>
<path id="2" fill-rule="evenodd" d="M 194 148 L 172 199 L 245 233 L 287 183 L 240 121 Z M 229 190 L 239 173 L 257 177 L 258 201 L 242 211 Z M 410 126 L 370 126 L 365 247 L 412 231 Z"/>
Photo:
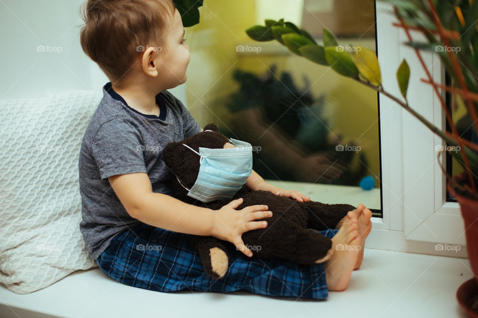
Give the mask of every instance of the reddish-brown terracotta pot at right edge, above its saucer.
<path id="1" fill-rule="evenodd" d="M 463 184 L 466 179 L 465 172 L 453 177 L 453 179 Z M 478 284 L 478 201 L 457 194 L 451 186 L 447 186 L 453 196 L 460 204 L 460 209 L 465 222 L 465 234 L 467 238 L 467 251 L 475 282 Z"/>

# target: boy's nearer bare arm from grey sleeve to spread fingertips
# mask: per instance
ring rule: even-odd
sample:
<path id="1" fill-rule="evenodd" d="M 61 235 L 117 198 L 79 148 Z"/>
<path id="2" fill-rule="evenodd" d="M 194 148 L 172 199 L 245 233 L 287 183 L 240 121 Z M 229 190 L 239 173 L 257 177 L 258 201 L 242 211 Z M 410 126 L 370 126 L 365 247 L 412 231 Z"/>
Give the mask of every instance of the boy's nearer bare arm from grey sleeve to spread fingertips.
<path id="1" fill-rule="evenodd" d="M 184 203 L 169 195 L 153 192 L 151 181 L 144 172 L 114 175 L 108 180 L 132 218 L 169 231 L 228 240 L 247 256 L 252 256 L 252 252 L 245 247 L 242 233 L 265 228 L 267 222 L 256 220 L 272 216 L 265 205 L 236 210 L 242 199 L 234 200 L 219 210 Z"/>

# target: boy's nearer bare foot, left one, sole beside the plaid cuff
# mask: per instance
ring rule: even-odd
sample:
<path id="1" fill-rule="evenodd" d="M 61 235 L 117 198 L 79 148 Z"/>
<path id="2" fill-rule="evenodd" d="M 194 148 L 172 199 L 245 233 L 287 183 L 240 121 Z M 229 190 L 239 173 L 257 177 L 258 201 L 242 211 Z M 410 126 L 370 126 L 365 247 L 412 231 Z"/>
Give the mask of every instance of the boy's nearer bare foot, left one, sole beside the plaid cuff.
<path id="1" fill-rule="evenodd" d="M 330 291 L 342 291 L 349 285 L 350 276 L 359 255 L 358 228 L 357 215 L 350 211 L 342 227 L 332 238 L 334 252 L 325 262 L 327 288 Z"/>

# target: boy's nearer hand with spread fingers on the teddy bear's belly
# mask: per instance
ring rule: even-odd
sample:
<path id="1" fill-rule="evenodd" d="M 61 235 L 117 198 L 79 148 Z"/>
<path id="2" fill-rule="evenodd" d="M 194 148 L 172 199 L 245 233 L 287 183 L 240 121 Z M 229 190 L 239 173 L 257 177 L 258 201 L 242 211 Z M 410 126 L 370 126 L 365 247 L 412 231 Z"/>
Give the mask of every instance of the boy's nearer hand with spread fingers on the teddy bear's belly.
<path id="1" fill-rule="evenodd" d="M 267 226 L 267 221 L 255 221 L 269 218 L 272 212 L 267 211 L 266 205 L 251 205 L 236 210 L 242 204 L 243 199 L 231 201 L 219 210 L 215 210 L 215 220 L 212 236 L 218 239 L 230 241 L 246 256 L 252 256 L 252 252 L 246 248 L 242 241 L 242 233 L 262 229 Z"/>

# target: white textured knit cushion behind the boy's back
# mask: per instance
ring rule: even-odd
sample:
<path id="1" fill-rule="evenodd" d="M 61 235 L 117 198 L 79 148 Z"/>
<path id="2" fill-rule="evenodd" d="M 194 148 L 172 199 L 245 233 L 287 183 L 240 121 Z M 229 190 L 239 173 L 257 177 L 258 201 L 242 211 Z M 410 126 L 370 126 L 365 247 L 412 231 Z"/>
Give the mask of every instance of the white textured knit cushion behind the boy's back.
<path id="1" fill-rule="evenodd" d="M 0 282 L 14 293 L 97 266 L 79 230 L 78 156 L 100 98 L 0 100 Z"/>

